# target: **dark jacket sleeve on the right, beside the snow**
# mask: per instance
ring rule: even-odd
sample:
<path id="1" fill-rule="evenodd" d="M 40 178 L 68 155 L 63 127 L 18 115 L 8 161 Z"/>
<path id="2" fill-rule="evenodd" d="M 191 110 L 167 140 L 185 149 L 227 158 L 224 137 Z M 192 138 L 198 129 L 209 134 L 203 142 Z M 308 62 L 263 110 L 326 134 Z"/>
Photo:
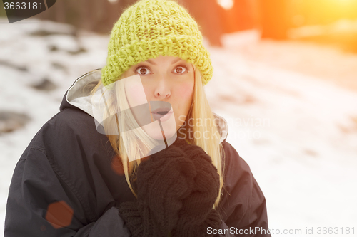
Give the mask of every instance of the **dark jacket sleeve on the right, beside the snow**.
<path id="1" fill-rule="evenodd" d="M 231 144 L 223 142 L 223 150 L 224 186 L 218 206 L 223 221 L 236 236 L 270 237 L 266 199 L 251 169 Z"/>

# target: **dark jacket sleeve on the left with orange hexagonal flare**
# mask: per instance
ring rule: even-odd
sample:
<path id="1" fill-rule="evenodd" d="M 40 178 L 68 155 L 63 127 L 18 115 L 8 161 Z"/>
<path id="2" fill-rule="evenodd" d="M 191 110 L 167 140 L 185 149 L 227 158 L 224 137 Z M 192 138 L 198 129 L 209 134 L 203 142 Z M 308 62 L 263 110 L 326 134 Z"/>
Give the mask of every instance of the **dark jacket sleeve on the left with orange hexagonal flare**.
<path id="1" fill-rule="evenodd" d="M 130 236 L 115 206 L 87 223 L 76 192 L 51 167 L 41 147 L 16 164 L 6 206 L 5 237 Z"/>

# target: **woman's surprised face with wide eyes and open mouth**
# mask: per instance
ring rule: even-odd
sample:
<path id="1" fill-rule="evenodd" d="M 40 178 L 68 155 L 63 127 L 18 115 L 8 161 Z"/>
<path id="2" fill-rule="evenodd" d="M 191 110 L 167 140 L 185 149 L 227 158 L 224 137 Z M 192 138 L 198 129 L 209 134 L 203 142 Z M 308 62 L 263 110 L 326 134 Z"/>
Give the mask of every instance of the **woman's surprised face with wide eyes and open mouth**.
<path id="1" fill-rule="evenodd" d="M 174 132 L 176 132 L 183 125 L 192 104 L 194 87 L 193 65 L 178 57 L 159 56 L 132 66 L 129 70 L 126 70 L 124 78 L 136 74 L 140 75 L 146 101 L 149 103 L 154 102 L 151 103 L 150 107 L 151 118 L 154 120 L 161 119 L 163 112 L 155 110 L 168 107 L 166 105 L 169 102 L 172 115 L 168 113 L 165 117 L 162 117 L 162 121 L 164 121 L 162 125 L 164 127 L 167 120 L 171 120 L 172 122 L 175 120 L 176 130 Z M 135 87 L 127 89 L 126 95 L 131 107 L 132 105 L 139 105 L 139 101 L 143 101 L 143 95 L 138 95 L 139 91 L 140 88 Z M 136 96 L 128 96 L 128 94 Z M 138 112 L 134 113 L 134 117 L 139 116 Z M 166 122 L 166 125 L 169 126 L 169 121 Z M 147 129 L 144 128 L 144 130 Z M 150 133 L 152 134 L 152 132 Z"/>

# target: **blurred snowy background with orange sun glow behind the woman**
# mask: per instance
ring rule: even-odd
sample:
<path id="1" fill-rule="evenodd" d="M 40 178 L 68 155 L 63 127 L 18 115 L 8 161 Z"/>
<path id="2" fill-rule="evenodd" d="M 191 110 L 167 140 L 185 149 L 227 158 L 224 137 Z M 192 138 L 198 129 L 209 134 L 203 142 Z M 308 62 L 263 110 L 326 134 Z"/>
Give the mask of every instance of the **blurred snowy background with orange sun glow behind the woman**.
<path id="1" fill-rule="evenodd" d="M 16 162 L 74 80 L 105 65 L 111 27 L 133 3 L 59 0 L 11 24 L 0 3 L 1 234 Z M 357 0 L 178 3 L 201 26 L 208 100 L 266 196 L 269 228 L 357 235 Z"/>

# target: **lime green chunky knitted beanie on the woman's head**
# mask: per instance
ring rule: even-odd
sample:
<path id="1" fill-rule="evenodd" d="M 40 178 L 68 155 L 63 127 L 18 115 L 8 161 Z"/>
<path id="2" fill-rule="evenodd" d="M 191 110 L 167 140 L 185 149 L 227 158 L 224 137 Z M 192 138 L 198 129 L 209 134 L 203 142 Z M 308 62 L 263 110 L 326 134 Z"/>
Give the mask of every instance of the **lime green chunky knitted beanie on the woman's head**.
<path id="1" fill-rule="evenodd" d="M 202 39 L 196 21 L 175 1 L 138 1 L 124 11 L 111 30 L 102 83 L 114 83 L 132 65 L 161 55 L 193 63 L 206 85 L 213 66 Z"/>

